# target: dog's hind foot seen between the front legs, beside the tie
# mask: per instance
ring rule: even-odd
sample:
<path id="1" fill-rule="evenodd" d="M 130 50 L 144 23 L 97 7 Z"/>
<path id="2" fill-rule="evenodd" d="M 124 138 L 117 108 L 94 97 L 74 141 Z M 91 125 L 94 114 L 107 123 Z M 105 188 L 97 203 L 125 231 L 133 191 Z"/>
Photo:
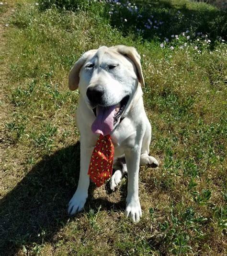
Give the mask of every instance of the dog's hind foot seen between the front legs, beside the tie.
<path id="1" fill-rule="evenodd" d="M 118 158 L 114 163 L 114 169 L 116 171 L 110 179 L 110 189 L 112 191 L 114 191 L 115 188 L 119 186 L 125 173 L 127 173 L 125 158 Z"/>

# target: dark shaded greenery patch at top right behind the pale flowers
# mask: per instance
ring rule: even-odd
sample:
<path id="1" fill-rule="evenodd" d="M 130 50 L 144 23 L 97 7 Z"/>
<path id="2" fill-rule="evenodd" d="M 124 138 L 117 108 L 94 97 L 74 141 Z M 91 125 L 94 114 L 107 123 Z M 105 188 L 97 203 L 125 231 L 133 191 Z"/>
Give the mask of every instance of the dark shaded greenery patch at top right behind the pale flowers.
<path id="1" fill-rule="evenodd" d="M 138 35 L 138 30 L 144 30 L 143 39 L 180 35 L 190 30 L 191 33 L 208 34 L 210 39 L 215 40 L 217 36 L 227 35 L 227 12 L 202 4 L 197 7 L 189 7 L 193 3 L 175 2 L 170 0 L 135 0 L 138 11 L 133 6 L 129 8 L 118 7 L 119 11 L 110 17 L 110 24 L 117 27 L 128 36 L 132 33 Z M 105 13 L 108 13 L 107 11 Z M 124 22 L 124 20 L 127 22 Z M 140 33 L 140 32 L 139 32 Z M 191 38 L 193 39 L 193 38 Z"/>

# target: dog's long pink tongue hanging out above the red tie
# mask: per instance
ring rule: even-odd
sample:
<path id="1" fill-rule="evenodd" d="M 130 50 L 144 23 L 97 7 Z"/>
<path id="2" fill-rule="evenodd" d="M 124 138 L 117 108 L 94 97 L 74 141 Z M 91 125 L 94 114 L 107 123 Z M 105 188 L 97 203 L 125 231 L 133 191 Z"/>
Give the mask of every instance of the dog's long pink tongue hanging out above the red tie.
<path id="1" fill-rule="evenodd" d="M 103 136 L 110 134 L 114 129 L 114 113 L 115 106 L 96 108 L 96 119 L 91 125 L 91 131 L 94 134 L 102 134 Z"/>

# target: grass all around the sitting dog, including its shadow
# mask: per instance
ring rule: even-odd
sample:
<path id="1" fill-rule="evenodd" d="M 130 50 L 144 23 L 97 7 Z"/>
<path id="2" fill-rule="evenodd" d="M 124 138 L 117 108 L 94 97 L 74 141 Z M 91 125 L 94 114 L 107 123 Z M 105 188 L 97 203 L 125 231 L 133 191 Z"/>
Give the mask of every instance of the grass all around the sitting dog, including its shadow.
<path id="1" fill-rule="evenodd" d="M 224 255 L 226 12 L 187 0 L 0 8 L 9 24 L 0 63 L 0 254 Z M 138 224 L 123 213 L 126 179 L 114 193 L 91 184 L 85 210 L 66 213 L 79 177 L 79 92 L 68 91 L 68 73 L 84 51 L 117 44 L 142 57 L 150 150 L 160 162 L 141 168 Z"/>

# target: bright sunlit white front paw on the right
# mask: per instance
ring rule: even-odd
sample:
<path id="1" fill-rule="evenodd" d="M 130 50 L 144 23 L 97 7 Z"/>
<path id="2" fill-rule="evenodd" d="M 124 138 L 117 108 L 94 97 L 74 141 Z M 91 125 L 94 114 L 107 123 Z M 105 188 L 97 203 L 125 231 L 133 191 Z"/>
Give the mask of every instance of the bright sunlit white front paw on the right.
<path id="1" fill-rule="evenodd" d="M 133 222 L 138 222 L 140 217 L 142 216 L 142 211 L 139 203 L 139 199 L 131 199 L 126 204 L 125 214 L 129 217 Z"/>

